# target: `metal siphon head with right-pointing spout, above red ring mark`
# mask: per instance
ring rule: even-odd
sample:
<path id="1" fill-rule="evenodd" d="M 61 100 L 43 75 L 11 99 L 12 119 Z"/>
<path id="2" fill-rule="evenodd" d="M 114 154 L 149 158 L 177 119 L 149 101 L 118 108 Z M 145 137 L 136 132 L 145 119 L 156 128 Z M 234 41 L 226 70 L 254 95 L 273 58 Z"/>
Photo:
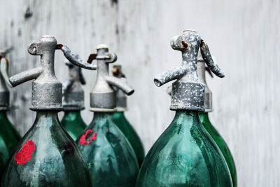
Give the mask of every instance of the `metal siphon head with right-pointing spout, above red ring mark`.
<path id="1" fill-rule="evenodd" d="M 90 92 L 90 111 L 111 112 L 116 111 L 116 92 L 113 87 L 123 90 L 126 95 L 132 95 L 134 90 L 127 84 L 125 78 L 109 76 L 109 64 L 116 62 L 117 55 L 109 53 L 108 46 L 97 46 L 97 54 L 90 55 L 97 60 L 97 79 Z M 79 63 L 78 66 L 83 67 Z M 83 67 L 85 68 L 85 67 Z"/>

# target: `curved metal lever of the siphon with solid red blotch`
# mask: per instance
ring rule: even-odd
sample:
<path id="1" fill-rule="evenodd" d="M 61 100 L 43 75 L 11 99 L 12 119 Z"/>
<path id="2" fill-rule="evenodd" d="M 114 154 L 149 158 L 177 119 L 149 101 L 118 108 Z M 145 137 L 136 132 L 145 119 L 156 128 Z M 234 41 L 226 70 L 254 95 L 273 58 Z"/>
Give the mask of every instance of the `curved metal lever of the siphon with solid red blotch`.
<path id="1" fill-rule="evenodd" d="M 74 54 L 67 46 L 63 46 L 62 44 L 58 44 L 57 49 L 62 50 L 66 59 L 68 59 L 69 62 L 71 62 L 72 64 L 75 64 L 78 67 L 83 67 L 85 69 L 91 69 L 91 70 L 97 69 L 96 64 L 89 64 L 87 62 L 84 62 L 83 60 L 81 60 L 78 57 L 78 55 Z"/>

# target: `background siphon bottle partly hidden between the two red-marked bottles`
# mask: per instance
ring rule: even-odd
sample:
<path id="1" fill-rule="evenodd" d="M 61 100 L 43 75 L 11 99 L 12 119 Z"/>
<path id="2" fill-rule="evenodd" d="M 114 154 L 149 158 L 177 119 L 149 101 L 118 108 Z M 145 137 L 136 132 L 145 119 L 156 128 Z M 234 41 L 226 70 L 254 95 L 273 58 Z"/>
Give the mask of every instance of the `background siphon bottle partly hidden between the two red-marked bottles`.
<path id="1" fill-rule="evenodd" d="M 62 85 L 64 116 L 61 124 L 70 137 L 76 141 L 78 136 L 85 130 L 85 127 L 87 127 L 82 116 L 80 116 L 80 111 L 85 109 L 85 94 L 81 87 L 81 84 L 85 85 L 85 78 L 80 67 L 74 66 L 70 62 L 65 64 L 69 67 L 69 80 Z"/>

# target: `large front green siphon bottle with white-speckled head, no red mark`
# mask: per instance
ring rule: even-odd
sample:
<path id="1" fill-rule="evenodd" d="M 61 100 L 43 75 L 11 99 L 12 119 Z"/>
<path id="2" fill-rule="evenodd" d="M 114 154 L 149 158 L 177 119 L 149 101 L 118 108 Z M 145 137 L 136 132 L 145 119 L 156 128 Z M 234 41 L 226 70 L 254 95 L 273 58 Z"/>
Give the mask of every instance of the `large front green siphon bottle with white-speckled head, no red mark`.
<path id="1" fill-rule="evenodd" d="M 202 50 L 207 66 L 217 76 L 223 73 L 214 64 L 200 34 L 186 30 L 170 42 L 181 50 L 182 65 L 156 76 L 155 85 L 172 84 L 174 120 L 146 155 L 137 186 L 232 186 L 228 165 L 198 113 L 204 111 L 204 83 L 197 76 L 197 53 Z"/>

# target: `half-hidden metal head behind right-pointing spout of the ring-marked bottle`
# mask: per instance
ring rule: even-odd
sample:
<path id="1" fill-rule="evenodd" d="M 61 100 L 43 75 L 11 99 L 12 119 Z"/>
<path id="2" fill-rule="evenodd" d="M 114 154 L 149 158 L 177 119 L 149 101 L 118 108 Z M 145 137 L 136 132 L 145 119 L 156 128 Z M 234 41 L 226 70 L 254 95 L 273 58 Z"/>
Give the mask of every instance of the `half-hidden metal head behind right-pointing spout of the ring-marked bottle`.
<path id="1" fill-rule="evenodd" d="M 118 78 L 125 78 L 121 65 L 114 65 L 112 74 L 113 76 L 116 76 Z M 117 111 L 127 110 L 127 95 L 125 95 L 123 90 L 120 90 L 118 88 L 116 88 L 116 110 Z"/>

